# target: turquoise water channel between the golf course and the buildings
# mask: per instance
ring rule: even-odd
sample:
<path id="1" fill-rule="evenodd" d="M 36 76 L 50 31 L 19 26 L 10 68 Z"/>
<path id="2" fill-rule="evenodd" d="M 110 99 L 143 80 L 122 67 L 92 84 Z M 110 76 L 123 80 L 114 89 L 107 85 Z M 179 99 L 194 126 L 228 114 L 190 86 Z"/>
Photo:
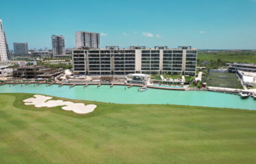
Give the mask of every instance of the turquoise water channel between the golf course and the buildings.
<path id="1" fill-rule="evenodd" d="M 126 88 L 126 90 L 125 90 Z M 159 90 L 149 88 L 145 92 L 138 92 L 139 87 L 114 85 L 83 85 L 69 87 L 69 85 L 50 85 L 34 84 L 24 85 L 1 85 L 0 93 L 32 93 L 47 94 L 62 98 L 77 100 L 95 100 L 101 102 L 114 102 L 120 104 L 172 104 L 172 105 L 191 105 L 203 107 L 226 107 L 235 109 L 256 109 L 256 100 L 253 98 L 242 99 L 235 94 L 223 94 L 218 92 L 206 91 L 178 91 L 178 90 Z"/>

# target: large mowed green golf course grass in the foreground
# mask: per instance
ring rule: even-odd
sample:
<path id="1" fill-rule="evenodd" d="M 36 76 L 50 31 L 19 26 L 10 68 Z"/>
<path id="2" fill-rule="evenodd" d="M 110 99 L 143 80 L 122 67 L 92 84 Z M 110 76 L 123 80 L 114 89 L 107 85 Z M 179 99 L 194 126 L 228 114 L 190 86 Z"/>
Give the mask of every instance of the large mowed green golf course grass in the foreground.
<path id="1" fill-rule="evenodd" d="M 256 161 L 256 111 L 85 102 L 98 107 L 78 115 L 31 96 L 0 94 L 0 163 Z"/>

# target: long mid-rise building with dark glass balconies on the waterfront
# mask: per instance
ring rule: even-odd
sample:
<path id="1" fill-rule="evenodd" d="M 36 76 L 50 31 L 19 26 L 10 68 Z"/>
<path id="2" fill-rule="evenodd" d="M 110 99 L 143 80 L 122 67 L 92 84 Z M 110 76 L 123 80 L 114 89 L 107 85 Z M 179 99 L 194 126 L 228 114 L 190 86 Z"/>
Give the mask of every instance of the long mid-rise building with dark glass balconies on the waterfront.
<path id="1" fill-rule="evenodd" d="M 73 50 L 74 74 L 190 74 L 196 73 L 197 49 L 180 46 L 168 49 L 167 46 L 130 46 L 118 49 Z"/>

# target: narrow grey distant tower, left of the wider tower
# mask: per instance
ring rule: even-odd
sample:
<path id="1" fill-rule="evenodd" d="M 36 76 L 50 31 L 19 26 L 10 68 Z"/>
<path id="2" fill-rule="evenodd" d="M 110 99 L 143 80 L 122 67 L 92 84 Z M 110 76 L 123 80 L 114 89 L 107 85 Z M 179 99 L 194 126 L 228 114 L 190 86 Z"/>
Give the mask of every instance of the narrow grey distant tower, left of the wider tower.
<path id="1" fill-rule="evenodd" d="M 51 36 L 51 44 L 53 46 L 53 57 L 66 55 L 64 36 Z"/>

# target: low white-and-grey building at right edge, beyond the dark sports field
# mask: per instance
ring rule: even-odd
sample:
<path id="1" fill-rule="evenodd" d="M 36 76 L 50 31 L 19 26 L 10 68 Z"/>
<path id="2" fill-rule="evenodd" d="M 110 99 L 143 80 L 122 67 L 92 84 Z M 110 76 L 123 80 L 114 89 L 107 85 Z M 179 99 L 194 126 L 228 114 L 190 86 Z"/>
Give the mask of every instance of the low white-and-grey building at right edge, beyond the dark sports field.
<path id="1" fill-rule="evenodd" d="M 238 70 L 256 72 L 256 64 L 229 64 L 229 72 L 238 72 Z"/>

